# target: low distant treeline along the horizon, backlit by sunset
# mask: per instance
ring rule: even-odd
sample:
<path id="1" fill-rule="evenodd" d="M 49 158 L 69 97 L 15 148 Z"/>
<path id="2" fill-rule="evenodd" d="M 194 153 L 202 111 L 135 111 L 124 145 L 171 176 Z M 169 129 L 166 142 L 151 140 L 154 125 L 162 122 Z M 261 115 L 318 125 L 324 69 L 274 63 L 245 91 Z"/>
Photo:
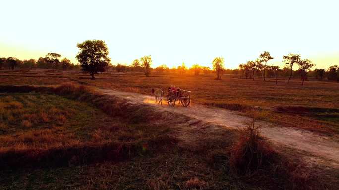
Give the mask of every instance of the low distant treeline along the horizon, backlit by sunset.
<path id="1" fill-rule="evenodd" d="M 40 57 L 38 60 L 19 60 L 14 57 L 0 58 L 0 69 L 7 67 L 14 69 L 20 68 L 44 68 L 44 69 L 62 69 L 62 70 L 80 70 L 80 64 L 71 63 L 67 58 L 60 60 L 61 55 L 57 53 L 48 53 L 45 57 Z M 265 68 L 265 72 L 263 72 Z M 176 68 L 169 68 L 166 65 L 160 65 L 156 68 L 149 68 L 151 73 L 154 74 L 210 74 L 216 73 L 216 70 L 212 70 L 210 67 L 200 66 L 198 64 L 188 68 L 184 63 Z M 145 68 L 140 64 L 138 59 L 135 59 L 131 65 L 112 65 L 109 64 L 105 67 L 106 71 L 116 72 L 144 72 Z M 339 66 L 333 65 L 328 69 L 314 69 L 305 71 L 305 69 L 291 70 L 290 67 L 284 67 L 280 69 L 278 66 L 262 66 L 260 62 L 249 61 L 247 64 L 240 64 L 237 69 L 222 69 L 223 74 L 238 75 L 241 78 L 253 79 L 256 76 L 262 77 L 294 77 L 307 79 L 307 77 L 313 77 L 315 79 L 333 80 L 339 82 Z"/>

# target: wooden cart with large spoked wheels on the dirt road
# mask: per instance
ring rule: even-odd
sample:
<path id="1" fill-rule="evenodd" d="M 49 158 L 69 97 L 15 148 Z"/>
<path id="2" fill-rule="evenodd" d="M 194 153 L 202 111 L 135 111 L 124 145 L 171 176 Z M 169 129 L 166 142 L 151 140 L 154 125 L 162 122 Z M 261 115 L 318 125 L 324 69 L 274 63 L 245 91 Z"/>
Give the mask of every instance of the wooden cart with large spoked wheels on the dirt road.
<path id="1" fill-rule="evenodd" d="M 167 103 L 170 107 L 175 106 L 175 102 L 181 102 L 182 106 L 187 107 L 191 102 L 191 91 L 186 91 L 180 88 L 168 88 Z"/>

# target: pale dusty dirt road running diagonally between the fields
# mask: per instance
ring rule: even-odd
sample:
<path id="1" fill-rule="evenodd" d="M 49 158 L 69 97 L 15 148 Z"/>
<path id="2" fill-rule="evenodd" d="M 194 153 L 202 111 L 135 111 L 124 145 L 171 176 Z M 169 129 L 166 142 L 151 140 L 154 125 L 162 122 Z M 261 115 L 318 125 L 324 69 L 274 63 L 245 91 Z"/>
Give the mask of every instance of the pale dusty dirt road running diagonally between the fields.
<path id="1" fill-rule="evenodd" d="M 193 103 L 189 107 L 179 105 L 172 108 L 167 105 L 166 97 L 163 98 L 163 105 L 158 105 L 155 104 L 154 97 L 149 95 L 109 89 L 99 89 L 99 91 L 107 95 L 130 100 L 132 103 L 145 103 L 154 106 L 156 109 L 183 114 L 229 128 L 242 127 L 244 122 L 250 119 L 239 112 L 194 105 Z M 284 145 L 299 150 L 303 154 L 306 153 L 310 162 L 339 168 L 339 143 L 334 141 L 333 137 L 320 136 L 306 130 L 277 126 L 263 121 L 259 122 L 259 124 L 262 126 L 262 134 L 276 145 Z"/>

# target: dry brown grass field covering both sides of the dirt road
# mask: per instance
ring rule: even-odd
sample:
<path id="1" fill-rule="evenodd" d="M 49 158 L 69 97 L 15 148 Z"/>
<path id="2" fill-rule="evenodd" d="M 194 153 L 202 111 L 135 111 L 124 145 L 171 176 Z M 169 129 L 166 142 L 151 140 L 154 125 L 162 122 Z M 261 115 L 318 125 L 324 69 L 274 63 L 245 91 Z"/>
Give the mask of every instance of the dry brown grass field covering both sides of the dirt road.
<path id="1" fill-rule="evenodd" d="M 103 73 L 92 81 L 72 71 L 0 71 L 0 190 L 336 189 L 338 170 L 310 168 L 305 155 L 272 148 L 256 130 L 196 123 L 94 91 L 150 94 L 175 85 L 192 91 L 191 106 L 264 112 L 260 119 L 288 127 L 339 132 L 338 83 L 214 78 Z"/>

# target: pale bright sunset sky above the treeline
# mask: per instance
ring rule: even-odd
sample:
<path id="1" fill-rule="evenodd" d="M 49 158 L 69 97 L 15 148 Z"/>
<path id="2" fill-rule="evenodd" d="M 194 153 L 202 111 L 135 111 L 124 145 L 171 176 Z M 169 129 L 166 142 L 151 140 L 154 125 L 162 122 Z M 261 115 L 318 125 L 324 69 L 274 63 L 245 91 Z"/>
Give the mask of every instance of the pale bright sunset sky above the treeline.
<path id="1" fill-rule="evenodd" d="M 339 64 L 338 0 L 0 0 L 0 57 L 56 52 L 76 62 L 77 43 L 104 40 L 112 63 L 151 55 L 166 64 L 226 68 L 263 51 Z"/>

